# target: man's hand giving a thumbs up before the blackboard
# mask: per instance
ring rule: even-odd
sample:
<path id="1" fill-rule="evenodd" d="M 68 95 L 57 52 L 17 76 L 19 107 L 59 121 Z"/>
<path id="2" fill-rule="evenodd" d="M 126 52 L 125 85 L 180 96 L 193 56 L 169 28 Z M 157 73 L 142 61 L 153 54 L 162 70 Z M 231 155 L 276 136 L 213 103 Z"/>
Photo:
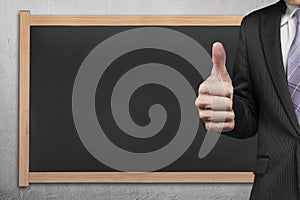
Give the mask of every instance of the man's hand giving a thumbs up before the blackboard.
<path id="1" fill-rule="evenodd" d="M 220 42 L 213 44 L 212 62 L 211 75 L 199 86 L 195 105 L 208 131 L 231 131 L 235 125 L 233 86 L 225 67 L 225 49 Z"/>

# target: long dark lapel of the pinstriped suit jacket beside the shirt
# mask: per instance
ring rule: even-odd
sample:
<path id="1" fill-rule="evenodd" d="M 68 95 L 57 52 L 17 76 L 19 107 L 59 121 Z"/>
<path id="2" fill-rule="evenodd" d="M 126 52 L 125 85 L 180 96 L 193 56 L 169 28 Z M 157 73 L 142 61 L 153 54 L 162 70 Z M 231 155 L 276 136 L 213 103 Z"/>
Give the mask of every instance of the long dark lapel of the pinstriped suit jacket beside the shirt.
<path id="1" fill-rule="evenodd" d="M 300 134 L 299 123 L 295 110 L 292 106 L 292 100 L 288 90 L 281 52 L 280 21 L 285 8 L 285 3 L 283 1 L 279 1 L 275 4 L 273 10 L 270 10 L 268 13 L 264 13 L 260 20 L 260 33 L 264 56 L 273 84 L 275 85 L 277 94 L 291 124 L 295 131 Z"/>

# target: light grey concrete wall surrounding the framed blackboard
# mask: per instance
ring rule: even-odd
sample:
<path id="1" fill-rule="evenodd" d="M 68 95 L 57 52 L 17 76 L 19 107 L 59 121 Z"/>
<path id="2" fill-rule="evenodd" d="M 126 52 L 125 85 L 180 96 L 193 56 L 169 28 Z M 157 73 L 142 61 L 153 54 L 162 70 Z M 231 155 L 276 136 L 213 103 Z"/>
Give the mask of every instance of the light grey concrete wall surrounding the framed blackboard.
<path id="1" fill-rule="evenodd" d="M 61 15 L 245 15 L 276 0 L 0 0 L 0 199 L 238 200 L 252 184 L 32 184 L 18 188 L 19 10 Z"/>

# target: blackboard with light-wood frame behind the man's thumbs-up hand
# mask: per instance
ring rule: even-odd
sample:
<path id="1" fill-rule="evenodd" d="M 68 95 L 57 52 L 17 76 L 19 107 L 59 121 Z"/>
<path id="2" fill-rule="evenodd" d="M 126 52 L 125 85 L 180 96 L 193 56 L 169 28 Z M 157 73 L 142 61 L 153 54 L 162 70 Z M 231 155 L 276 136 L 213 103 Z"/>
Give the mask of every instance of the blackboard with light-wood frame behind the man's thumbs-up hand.
<path id="1" fill-rule="evenodd" d="M 28 93 L 24 95 L 20 88 L 20 186 L 28 182 L 251 181 L 256 137 L 239 140 L 221 135 L 213 149 L 199 158 L 209 133 L 191 107 L 181 105 L 196 97 L 209 69 L 195 66 L 199 59 L 195 50 L 202 48 L 199 57 L 206 60 L 200 59 L 201 64 L 211 65 L 212 44 L 221 41 L 230 70 L 240 17 L 222 21 L 222 17 L 190 16 L 172 21 L 154 16 L 150 23 L 145 16 L 131 16 L 135 19 L 131 22 L 119 16 L 119 22 L 110 24 L 113 17 L 94 16 L 102 23 L 93 24 L 88 16 L 78 20 L 21 12 L 21 31 L 25 15 L 30 18 L 25 55 L 30 62 L 23 76 L 28 78 Z M 184 22 L 186 18 L 191 21 Z M 22 36 L 21 32 L 21 48 L 25 46 Z M 20 51 L 21 68 L 24 54 Z M 27 178 L 21 176 L 24 96 L 29 108 Z M 144 176 L 131 174 L 130 178 L 130 172 Z M 79 178 L 84 174 L 100 178 Z M 123 174 L 128 177 L 122 178 Z M 113 176 L 101 179 L 105 175 Z M 170 178 L 178 175 L 179 180 Z"/>

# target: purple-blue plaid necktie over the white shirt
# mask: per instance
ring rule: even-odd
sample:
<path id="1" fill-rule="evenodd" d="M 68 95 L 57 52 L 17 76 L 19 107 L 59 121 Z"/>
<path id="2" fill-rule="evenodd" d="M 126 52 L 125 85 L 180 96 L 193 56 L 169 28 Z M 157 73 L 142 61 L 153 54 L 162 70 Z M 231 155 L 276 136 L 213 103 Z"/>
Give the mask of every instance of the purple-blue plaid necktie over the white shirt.
<path id="1" fill-rule="evenodd" d="M 293 106 L 300 123 L 300 10 L 295 12 L 297 30 L 288 55 L 287 80 Z"/>

